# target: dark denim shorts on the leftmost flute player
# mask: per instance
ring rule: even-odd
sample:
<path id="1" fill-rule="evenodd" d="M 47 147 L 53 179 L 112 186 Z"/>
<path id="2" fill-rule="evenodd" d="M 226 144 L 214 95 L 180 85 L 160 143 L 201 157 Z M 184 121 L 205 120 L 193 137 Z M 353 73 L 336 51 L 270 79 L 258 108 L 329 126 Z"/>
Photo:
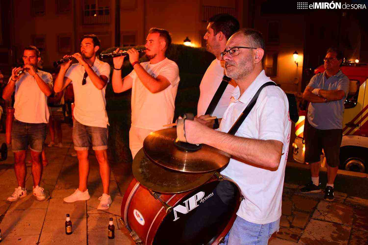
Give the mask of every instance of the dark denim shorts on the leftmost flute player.
<path id="1" fill-rule="evenodd" d="M 46 139 L 46 123 L 23 123 L 14 119 L 11 129 L 13 152 L 20 152 L 30 146 L 34 152 L 42 152 Z"/>

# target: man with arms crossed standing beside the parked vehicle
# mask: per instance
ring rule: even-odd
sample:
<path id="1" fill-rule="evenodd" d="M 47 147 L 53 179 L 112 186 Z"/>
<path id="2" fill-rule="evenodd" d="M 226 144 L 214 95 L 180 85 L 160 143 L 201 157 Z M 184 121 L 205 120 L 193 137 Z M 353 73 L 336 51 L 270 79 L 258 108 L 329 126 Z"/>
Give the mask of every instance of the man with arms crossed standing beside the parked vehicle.
<path id="1" fill-rule="evenodd" d="M 311 165 L 311 181 L 301 192 L 321 192 L 319 183 L 322 149 L 327 161 L 327 185 L 324 199 L 334 199 L 333 187 L 340 164 L 344 100 L 349 92 L 349 79 L 340 70 L 342 53 L 330 48 L 323 59 L 325 71 L 312 77 L 303 93 L 307 100 L 305 120 L 305 162 Z"/>

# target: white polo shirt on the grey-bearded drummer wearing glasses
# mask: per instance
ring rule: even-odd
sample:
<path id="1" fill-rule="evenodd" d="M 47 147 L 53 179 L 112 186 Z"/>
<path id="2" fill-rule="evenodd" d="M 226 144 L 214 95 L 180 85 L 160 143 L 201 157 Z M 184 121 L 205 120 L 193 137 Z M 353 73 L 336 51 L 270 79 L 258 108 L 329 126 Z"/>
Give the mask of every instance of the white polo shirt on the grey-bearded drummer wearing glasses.
<path id="1" fill-rule="evenodd" d="M 232 102 L 224 113 L 220 131 L 228 132 L 247 107 L 256 91 L 271 81 L 263 70 L 240 96 L 237 86 Z M 239 97 L 240 96 L 240 97 Z M 257 102 L 236 132 L 236 136 L 251 139 L 274 139 L 283 142 L 282 157 L 276 171 L 247 164 L 231 158 L 229 165 L 221 172 L 229 176 L 240 187 L 245 199 L 237 215 L 256 224 L 267 224 L 281 217 L 282 191 L 284 184 L 287 153 L 289 151 L 291 121 L 289 102 L 283 90 L 267 86 L 259 93 Z"/>

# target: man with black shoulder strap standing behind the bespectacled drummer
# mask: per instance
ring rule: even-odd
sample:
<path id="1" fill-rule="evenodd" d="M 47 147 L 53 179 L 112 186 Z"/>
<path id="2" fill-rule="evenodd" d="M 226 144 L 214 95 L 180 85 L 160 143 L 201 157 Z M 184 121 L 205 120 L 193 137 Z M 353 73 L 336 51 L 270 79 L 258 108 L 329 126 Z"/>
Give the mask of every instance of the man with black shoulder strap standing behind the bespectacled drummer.
<path id="1" fill-rule="evenodd" d="M 201 85 L 199 86 L 200 95 L 197 106 L 197 115 L 200 118 L 206 118 L 215 116 L 217 120 L 207 121 L 208 127 L 218 128 L 221 118 L 230 103 L 231 93 L 237 86 L 234 80 L 231 80 L 229 84 L 224 88 L 223 94 L 214 109 L 208 110 L 209 104 L 215 95 L 220 84 L 222 84 L 225 74 L 224 63 L 222 60 L 221 52 L 225 49 L 227 39 L 230 38 L 234 32 L 239 30 L 238 20 L 229 14 L 216 14 L 208 19 L 207 32 L 203 37 L 206 40 L 206 49 L 208 52 L 216 56 L 215 60 L 207 68 Z M 211 115 L 205 115 L 206 112 Z"/>

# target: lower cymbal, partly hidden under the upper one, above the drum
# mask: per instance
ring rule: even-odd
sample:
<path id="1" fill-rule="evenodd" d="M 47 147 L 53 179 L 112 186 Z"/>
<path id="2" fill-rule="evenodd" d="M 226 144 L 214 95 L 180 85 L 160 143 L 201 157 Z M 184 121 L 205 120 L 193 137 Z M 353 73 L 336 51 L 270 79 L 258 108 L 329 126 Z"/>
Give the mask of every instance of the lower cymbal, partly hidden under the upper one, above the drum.
<path id="1" fill-rule="evenodd" d="M 132 165 L 135 179 L 144 187 L 159 193 L 180 193 L 207 182 L 215 172 L 183 173 L 164 168 L 149 160 L 143 149 L 135 155 Z"/>

